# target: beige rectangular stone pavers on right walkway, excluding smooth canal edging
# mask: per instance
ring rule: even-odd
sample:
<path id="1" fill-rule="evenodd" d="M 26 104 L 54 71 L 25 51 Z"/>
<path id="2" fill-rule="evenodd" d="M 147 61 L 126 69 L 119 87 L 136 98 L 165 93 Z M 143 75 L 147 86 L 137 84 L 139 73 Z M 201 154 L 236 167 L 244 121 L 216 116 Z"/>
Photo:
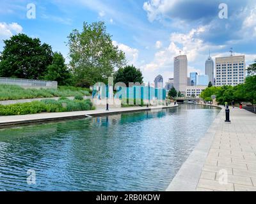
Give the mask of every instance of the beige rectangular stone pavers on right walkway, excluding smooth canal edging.
<path id="1" fill-rule="evenodd" d="M 256 191 L 256 115 L 230 109 L 226 123 L 220 114 L 196 191 Z"/>

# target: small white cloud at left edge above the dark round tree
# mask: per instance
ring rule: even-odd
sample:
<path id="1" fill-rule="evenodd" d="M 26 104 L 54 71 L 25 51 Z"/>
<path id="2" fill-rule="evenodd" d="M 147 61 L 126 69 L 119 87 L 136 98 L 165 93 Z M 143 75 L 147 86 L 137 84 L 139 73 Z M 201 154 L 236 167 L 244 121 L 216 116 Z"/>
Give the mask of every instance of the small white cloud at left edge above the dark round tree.
<path id="1" fill-rule="evenodd" d="M 0 39 L 6 39 L 13 36 L 13 34 L 22 33 L 21 25 L 13 22 L 11 24 L 6 24 L 5 22 L 0 22 Z"/>

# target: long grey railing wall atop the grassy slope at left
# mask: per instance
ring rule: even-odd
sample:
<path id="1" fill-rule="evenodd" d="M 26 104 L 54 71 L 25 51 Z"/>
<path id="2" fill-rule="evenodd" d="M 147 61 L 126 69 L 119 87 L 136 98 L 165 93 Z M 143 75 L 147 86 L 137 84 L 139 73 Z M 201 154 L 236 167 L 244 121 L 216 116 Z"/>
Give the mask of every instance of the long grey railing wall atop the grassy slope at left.
<path id="1" fill-rule="evenodd" d="M 0 84 L 8 85 L 20 85 L 22 87 L 31 88 L 47 88 L 47 89 L 57 89 L 58 82 L 55 81 L 44 81 L 44 80 L 31 80 L 24 78 L 4 78 L 0 77 Z"/>

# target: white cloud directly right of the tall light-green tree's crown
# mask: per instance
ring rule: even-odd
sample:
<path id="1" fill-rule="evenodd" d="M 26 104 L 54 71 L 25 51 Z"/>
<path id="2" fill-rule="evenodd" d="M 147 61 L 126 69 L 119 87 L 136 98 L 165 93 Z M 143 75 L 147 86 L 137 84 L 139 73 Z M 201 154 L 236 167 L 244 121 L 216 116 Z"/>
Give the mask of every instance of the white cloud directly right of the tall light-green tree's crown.
<path id="1" fill-rule="evenodd" d="M 117 41 L 113 41 L 113 45 L 118 46 L 120 50 L 125 53 L 126 59 L 130 64 L 138 64 L 139 50 L 136 48 L 131 48 L 128 45 L 124 45 L 122 43 L 118 43 Z"/>

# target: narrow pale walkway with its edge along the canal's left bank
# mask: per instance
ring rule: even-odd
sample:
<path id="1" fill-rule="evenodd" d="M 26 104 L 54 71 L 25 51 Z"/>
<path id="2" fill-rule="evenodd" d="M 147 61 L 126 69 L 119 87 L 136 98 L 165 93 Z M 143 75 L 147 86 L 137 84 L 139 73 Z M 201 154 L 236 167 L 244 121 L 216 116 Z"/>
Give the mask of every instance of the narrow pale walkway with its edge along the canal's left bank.
<path id="1" fill-rule="evenodd" d="M 166 108 L 173 108 L 178 105 L 173 103 L 168 106 L 134 106 L 128 108 L 110 108 L 109 111 L 106 109 L 79 111 L 79 112 L 62 112 L 62 113 L 37 113 L 31 115 L 11 115 L 11 116 L 0 116 L 0 128 L 6 126 L 15 126 L 20 124 L 31 124 L 36 122 L 51 122 L 56 120 L 64 119 L 79 119 L 85 117 L 97 117 L 103 115 L 111 115 L 116 113 L 129 113 L 129 112 L 140 112 L 140 111 L 157 111 Z"/>

